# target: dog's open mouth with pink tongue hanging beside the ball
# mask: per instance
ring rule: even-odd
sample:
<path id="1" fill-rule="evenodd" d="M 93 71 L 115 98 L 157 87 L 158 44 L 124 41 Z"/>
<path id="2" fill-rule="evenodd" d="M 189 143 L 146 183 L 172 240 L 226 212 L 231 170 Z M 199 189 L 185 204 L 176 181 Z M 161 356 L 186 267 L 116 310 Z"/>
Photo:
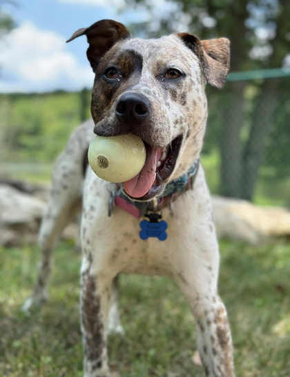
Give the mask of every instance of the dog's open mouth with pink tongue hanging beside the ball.
<path id="1" fill-rule="evenodd" d="M 153 148 L 145 141 L 144 144 L 146 147 L 144 167 L 133 179 L 123 183 L 126 194 L 137 201 L 148 201 L 161 194 L 174 170 L 182 136 L 178 136 L 163 148 Z"/>

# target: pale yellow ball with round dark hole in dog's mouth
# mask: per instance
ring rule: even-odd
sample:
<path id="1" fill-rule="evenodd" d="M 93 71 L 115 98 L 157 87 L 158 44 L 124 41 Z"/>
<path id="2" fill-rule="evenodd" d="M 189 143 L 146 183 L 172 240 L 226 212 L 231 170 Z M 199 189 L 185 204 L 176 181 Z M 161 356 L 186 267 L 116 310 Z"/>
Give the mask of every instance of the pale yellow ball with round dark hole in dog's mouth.
<path id="1" fill-rule="evenodd" d="M 134 178 L 144 166 L 145 145 L 138 136 L 96 136 L 88 148 L 88 162 L 99 178 L 120 183 Z"/>

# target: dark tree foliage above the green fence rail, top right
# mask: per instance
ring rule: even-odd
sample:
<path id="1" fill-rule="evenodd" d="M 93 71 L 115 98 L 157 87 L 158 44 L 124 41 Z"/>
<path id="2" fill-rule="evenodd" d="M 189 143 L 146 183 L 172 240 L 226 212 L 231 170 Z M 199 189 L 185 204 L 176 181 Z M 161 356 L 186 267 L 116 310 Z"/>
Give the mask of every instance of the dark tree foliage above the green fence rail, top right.
<path id="1" fill-rule="evenodd" d="M 229 38 L 234 71 L 280 66 L 289 53 L 288 0 L 171 0 L 163 12 L 156 12 L 158 4 L 151 0 L 126 3 L 148 12 L 146 21 L 131 24 L 131 30 L 142 36 L 188 31 L 200 39 Z"/>

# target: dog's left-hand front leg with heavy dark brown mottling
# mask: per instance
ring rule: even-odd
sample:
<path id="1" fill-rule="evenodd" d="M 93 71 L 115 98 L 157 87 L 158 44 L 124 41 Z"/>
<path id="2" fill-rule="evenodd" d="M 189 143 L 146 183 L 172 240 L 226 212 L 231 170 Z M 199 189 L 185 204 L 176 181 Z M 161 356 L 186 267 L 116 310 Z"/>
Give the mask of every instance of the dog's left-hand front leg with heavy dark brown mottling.
<path id="1" fill-rule="evenodd" d="M 94 272 L 84 257 L 81 267 L 81 332 L 84 343 L 84 377 L 109 377 L 107 323 L 111 280 Z"/>

